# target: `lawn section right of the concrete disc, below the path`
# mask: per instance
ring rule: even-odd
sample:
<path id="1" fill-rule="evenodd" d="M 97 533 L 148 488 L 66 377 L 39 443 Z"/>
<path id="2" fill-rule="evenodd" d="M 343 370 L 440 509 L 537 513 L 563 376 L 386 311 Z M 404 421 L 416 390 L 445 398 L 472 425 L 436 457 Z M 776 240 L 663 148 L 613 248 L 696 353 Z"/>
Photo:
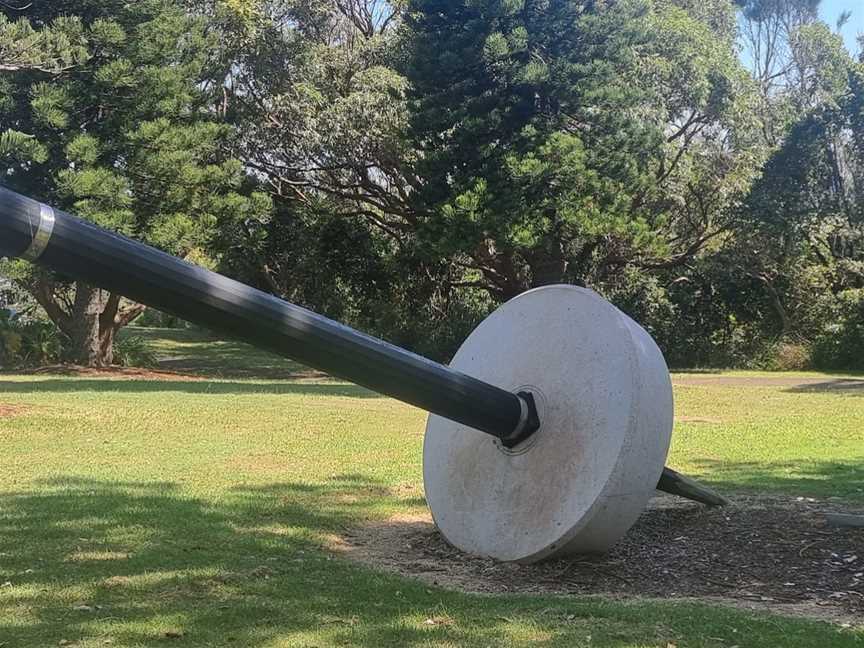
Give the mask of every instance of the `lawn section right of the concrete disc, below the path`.
<path id="1" fill-rule="evenodd" d="M 864 389 L 679 385 L 675 396 L 676 469 L 721 490 L 864 501 Z"/>

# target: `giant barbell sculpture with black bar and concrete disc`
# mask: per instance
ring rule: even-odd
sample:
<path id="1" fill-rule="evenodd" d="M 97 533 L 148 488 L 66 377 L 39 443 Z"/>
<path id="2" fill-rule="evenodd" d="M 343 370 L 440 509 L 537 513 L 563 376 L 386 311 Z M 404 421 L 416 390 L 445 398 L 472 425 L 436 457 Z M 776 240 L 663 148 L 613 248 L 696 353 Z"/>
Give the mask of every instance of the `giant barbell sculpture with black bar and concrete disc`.
<path id="1" fill-rule="evenodd" d="M 432 516 L 464 551 L 533 562 L 610 548 L 655 488 L 723 498 L 664 468 L 663 355 L 596 293 L 530 290 L 484 320 L 450 366 L 0 187 L 0 256 L 21 257 L 430 412 Z"/>

